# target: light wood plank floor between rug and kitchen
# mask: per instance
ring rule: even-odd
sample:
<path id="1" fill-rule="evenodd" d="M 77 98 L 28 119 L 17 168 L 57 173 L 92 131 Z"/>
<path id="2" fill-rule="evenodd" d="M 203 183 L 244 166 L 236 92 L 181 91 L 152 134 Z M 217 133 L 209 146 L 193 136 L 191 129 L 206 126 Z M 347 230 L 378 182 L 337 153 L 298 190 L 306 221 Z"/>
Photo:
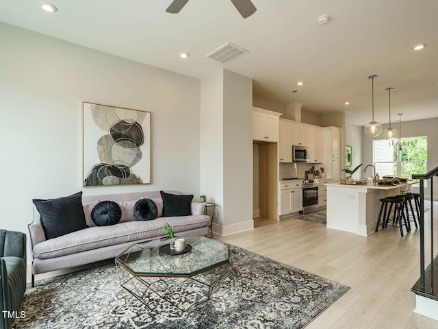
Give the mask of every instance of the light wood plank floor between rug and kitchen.
<path id="1" fill-rule="evenodd" d="M 364 237 L 294 217 L 255 219 L 255 226 L 215 238 L 350 287 L 306 329 L 438 328 L 438 321 L 413 313 L 411 288 L 420 278 L 420 230 L 415 227 L 402 238 L 398 228 Z"/>

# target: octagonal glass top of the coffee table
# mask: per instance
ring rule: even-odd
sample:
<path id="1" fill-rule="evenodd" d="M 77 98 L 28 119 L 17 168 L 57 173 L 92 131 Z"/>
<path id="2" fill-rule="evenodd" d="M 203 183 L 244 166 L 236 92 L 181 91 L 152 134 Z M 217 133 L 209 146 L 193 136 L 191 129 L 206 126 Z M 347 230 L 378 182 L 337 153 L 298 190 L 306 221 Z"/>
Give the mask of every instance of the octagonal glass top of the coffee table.
<path id="1" fill-rule="evenodd" d="M 230 263 L 230 249 L 220 241 L 205 236 L 190 236 L 185 243 L 192 246 L 186 254 L 171 256 L 159 251 L 169 241 L 149 241 L 129 247 L 116 257 L 133 276 L 181 276 L 190 277 L 214 267 Z"/>

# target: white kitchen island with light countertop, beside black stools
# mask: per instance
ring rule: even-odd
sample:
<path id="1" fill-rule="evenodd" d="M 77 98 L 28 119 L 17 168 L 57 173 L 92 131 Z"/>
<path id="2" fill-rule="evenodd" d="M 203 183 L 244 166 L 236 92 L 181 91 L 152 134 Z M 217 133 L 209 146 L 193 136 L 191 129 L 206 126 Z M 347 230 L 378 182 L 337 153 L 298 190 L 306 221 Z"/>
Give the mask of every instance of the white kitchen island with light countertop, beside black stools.
<path id="1" fill-rule="evenodd" d="M 341 182 L 326 183 L 327 228 L 352 232 L 362 236 L 374 233 L 381 208 L 379 199 L 398 195 L 414 182 L 396 185 L 348 185 Z"/>

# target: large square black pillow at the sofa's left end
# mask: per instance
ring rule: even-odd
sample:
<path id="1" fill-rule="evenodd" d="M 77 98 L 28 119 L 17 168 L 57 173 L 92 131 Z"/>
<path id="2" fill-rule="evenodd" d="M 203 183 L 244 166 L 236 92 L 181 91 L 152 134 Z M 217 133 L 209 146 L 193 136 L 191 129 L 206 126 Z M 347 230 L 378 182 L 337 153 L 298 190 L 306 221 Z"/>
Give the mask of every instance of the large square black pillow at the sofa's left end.
<path id="1" fill-rule="evenodd" d="M 88 228 L 82 208 L 82 192 L 57 199 L 33 199 L 40 213 L 40 221 L 46 239 L 54 239 Z"/>

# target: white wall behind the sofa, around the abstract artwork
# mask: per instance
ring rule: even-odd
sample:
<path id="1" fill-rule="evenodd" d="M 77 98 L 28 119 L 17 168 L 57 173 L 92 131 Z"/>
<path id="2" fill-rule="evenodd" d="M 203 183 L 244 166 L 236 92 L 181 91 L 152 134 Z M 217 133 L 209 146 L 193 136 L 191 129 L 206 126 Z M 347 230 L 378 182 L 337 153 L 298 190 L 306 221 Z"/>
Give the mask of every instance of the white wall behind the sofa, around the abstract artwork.
<path id="1" fill-rule="evenodd" d="M 33 198 L 200 191 L 200 81 L 0 23 L 1 228 Z M 151 184 L 82 187 L 81 101 L 151 112 Z M 249 160 L 251 158 L 249 157 Z"/>

